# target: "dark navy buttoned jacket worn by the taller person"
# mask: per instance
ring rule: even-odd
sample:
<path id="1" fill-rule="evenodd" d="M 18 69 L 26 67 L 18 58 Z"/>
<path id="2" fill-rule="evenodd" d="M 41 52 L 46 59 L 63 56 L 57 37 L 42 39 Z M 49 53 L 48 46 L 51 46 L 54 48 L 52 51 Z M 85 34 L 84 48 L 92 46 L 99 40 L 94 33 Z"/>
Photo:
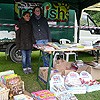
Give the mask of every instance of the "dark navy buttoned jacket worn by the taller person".
<path id="1" fill-rule="evenodd" d="M 35 40 L 48 39 L 48 41 L 51 41 L 50 30 L 45 17 L 41 16 L 40 19 L 36 19 L 33 15 L 31 23 Z"/>

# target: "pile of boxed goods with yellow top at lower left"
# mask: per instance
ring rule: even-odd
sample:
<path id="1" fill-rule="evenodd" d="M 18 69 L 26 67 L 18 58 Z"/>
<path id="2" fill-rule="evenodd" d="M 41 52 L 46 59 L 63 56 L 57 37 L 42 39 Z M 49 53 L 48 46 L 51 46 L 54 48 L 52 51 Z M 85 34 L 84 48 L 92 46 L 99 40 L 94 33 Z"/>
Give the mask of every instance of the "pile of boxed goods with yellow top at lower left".
<path id="1" fill-rule="evenodd" d="M 24 82 L 21 80 L 21 77 L 17 74 L 14 74 L 14 71 L 9 70 L 0 73 L 2 84 L 9 89 L 9 98 L 12 98 L 15 95 L 22 94 L 24 92 Z M 0 90 L 3 90 L 0 86 Z M 1 98 L 0 98 L 1 100 Z M 4 99 L 8 100 L 8 99 Z"/>

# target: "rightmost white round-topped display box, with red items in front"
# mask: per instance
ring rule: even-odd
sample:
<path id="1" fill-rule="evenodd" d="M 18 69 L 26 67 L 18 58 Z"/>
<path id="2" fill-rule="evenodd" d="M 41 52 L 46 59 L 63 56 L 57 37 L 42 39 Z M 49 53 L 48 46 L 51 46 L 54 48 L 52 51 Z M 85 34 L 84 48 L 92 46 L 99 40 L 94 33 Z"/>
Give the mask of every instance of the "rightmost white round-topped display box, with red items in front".
<path id="1" fill-rule="evenodd" d="M 81 78 L 82 84 L 86 86 L 87 92 L 100 90 L 100 82 L 96 80 L 92 80 L 92 76 L 88 72 L 82 71 L 80 73 L 80 78 Z"/>

